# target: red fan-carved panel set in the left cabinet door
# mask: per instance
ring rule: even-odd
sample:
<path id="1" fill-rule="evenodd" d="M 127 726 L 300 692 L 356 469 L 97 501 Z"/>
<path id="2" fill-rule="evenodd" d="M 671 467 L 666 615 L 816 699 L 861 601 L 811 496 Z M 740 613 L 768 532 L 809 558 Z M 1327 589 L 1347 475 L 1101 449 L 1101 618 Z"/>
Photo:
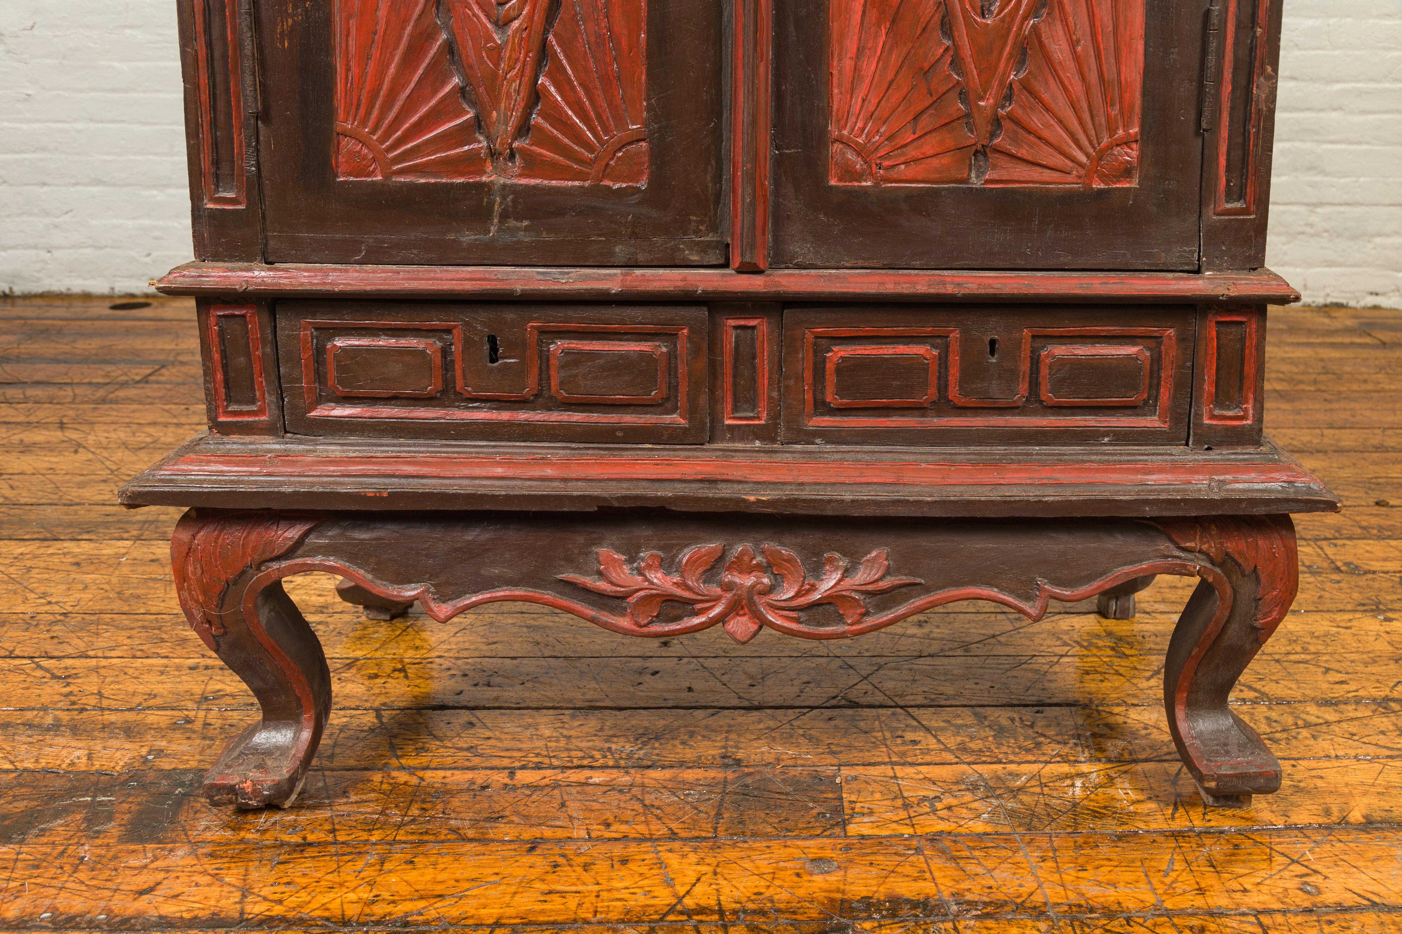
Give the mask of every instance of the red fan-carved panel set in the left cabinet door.
<path id="1" fill-rule="evenodd" d="M 645 185 L 645 0 L 336 0 L 339 179 Z"/>

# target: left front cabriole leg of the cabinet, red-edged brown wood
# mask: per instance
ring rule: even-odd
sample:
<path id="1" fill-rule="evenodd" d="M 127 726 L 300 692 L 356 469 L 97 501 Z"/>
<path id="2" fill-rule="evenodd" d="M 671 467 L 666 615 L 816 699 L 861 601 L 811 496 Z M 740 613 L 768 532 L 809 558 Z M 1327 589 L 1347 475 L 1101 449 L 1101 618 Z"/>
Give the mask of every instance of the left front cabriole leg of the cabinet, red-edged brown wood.
<path id="1" fill-rule="evenodd" d="M 191 627 L 262 707 L 262 720 L 234 738 L 205 777 L 212 804 L 289 805 L 321 742 L 331 710 L 325 654 L 271 567 L 315 524 L 310 517 L 192 510 L 171 541 Z"/>

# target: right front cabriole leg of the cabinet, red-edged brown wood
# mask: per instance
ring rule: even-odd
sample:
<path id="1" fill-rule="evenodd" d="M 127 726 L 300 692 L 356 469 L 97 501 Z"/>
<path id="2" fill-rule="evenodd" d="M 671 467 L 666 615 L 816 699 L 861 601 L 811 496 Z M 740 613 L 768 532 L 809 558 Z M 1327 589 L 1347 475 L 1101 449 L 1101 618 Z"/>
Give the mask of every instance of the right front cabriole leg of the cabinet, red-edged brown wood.
<path id="1" fill-rule="evenodd" d="M 1180 548 L 1211 557 L 1168 648 L 1169 730 L 1203 800 L 1245 807 L 1280 787 L 1280 763 L 1227 700 L 1294 599 L 1294 528 L 1288 517 L 1162 525 Z"/>

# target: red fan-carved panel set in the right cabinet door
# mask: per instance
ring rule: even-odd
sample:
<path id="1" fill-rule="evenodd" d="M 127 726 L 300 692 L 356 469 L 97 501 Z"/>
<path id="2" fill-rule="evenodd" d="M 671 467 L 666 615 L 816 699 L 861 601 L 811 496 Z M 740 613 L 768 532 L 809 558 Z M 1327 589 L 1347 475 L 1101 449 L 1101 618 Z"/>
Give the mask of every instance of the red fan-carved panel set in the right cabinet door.
<path id="1" fill-rule="evenodd" d="M 1138 182 L 1144 0 L 831 0 L 834 185 Z"/>

